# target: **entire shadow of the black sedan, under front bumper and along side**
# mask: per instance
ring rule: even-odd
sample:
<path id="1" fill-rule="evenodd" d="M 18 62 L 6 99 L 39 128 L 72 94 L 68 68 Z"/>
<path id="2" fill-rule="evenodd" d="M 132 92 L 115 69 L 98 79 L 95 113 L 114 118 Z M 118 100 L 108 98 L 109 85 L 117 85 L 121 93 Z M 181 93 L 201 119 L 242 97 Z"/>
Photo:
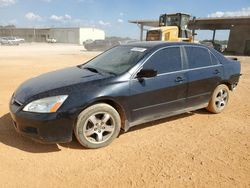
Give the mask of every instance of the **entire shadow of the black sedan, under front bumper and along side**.
<path id="1" fill-rule="evenodd" d="M 144 123 L 135 127 L 131 127 L 127 132 L 122 131 L 119 136 L 124 135 L 125 133 L 129 134 L 130 132 L 133 132 L 139 129 L 144 129 L 144 128 L 148 128 L 151 126 L 155 126 L 157 124 L 168 123 L 177 119 L 190 117 L 195 114 L 209 114 L 209 112 L 207 112 L 206 110 L 197 110 L 194 112 L 184 113 L 181 115 L 176 115 L 176 116 Z M 30 152 L 30 153 L 58 152 L 58 151 L 61 151 L 59 146 L 63 148 L 69 148 L 69 149 L 86 150 L 86 148 L 82 147 L 77 142 L 75 136 L 73 136 L 72 142 L 63 143 L 63 144 L 41 144 L 29 138 L 23 137 L 15 131 L 14 126 L 12 124 L 12 119 L 9 113 L 0 117 L 0 143 L 20 149 L 22 151 Z"/>

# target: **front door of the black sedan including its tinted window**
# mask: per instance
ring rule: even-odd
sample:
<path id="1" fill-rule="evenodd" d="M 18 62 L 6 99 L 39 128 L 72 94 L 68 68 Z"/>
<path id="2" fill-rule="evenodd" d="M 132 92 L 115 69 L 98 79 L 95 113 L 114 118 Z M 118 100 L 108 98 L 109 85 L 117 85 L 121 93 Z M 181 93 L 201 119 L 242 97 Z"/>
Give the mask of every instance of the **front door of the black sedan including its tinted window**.
<path id="1" fill-rule="evenodd" d="M 168 47 L 157 51 L 142 69 L 154 69 L 156 77 L 130 81 L 132 125 L 176 113 L 185 108 L 187 78 L 183 71 L 181 50 Z"/>

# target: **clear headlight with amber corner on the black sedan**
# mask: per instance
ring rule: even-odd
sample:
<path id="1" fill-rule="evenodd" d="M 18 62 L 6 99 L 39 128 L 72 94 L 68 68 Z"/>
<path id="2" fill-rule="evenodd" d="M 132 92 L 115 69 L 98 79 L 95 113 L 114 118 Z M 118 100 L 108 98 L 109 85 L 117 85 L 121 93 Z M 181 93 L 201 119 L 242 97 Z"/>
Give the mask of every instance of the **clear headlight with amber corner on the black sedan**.
<path id="1" fill-rule="evenodd" d="M 47 97 L 39 100 L 32 101 L 27 104 L 23 111 L 37 112 L 37 113 L 53 113 L 56 112 L 64 101 L 68 98 L 68 95 L 60 95 L 55 97 Z"/>

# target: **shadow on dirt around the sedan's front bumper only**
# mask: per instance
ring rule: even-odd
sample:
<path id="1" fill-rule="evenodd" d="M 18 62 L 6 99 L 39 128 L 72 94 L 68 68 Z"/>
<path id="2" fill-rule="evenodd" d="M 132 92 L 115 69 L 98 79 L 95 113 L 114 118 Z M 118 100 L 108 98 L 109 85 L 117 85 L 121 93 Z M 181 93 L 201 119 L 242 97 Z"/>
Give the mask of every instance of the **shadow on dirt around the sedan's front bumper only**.
<path id="1" fill-rule="evenodd" d="M 0 143 L 30 153 L 58 152 L 61 149 L 57 144 L 41 144 L 29 138 L 23 137 L 15 131 L 10 114 L 0 117 Z M 77 143 L 76 139 L 67 144 L 60 144 L 62 147 L 72 149 L 84 149 Z"/>

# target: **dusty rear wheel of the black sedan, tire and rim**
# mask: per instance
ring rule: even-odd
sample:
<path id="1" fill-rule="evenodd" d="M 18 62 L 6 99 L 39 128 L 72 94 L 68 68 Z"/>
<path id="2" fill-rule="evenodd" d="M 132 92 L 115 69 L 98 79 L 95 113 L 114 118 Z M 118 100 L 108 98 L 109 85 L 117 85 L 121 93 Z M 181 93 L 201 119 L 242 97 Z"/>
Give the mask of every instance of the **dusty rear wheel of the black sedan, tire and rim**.
<path id="1" fill-rule="evenodd" d="M 207 110 L 214 114 L 221 113 L 227 106 L 229 100 L 229 89 L 225 84 L 218 85 L 207 106 Z"/>

